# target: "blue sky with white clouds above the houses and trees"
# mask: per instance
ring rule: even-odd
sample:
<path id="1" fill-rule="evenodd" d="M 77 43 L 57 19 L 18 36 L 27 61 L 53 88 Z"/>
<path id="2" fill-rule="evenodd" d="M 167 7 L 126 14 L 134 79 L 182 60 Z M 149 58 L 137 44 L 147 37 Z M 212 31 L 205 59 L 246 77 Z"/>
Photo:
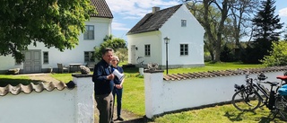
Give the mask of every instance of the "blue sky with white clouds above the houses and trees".
<path id="1" fill-rule="evenodd" d="M 127 41 L 126 33 L 139 22 L 146 13 L 152 13 L 153 6 L 161 9 L 181 4 L 180 0 L 106 0 L 111 13 L 114 15 L 112 22 L 112 35 Z M 275 14 L 287 25 L 287 0 L 276 0 Z"/>

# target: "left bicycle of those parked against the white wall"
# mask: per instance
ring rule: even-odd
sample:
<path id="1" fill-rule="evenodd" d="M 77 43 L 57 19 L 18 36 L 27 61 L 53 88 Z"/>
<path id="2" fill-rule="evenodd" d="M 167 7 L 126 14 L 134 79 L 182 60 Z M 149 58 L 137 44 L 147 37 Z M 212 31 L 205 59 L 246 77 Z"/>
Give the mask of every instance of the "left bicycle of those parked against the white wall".
<path id="1" fill-rule="evenodd" d="M 262 82 L 270 84 L 270 91 L 265 89 L 264 85 L 260 83 L 255 83 L 255 79 L 250 78 L 249 74 L 246 75 L 246 85 L 242 84 L 239 86 L 235 84 L 235 93 L 232 96 L 232 104 L 233 106 L 241 111 L 251 111 L 256 110 L 257 108 L 266 105 L 269 110 L 274 109 L 274 95 L 273 91 L 274 86 L 276 86 L 277 82 Z M 263 95 L 259 94 L 261 92 Z M 264 103 L 263 105 L 260 105 Z"/>

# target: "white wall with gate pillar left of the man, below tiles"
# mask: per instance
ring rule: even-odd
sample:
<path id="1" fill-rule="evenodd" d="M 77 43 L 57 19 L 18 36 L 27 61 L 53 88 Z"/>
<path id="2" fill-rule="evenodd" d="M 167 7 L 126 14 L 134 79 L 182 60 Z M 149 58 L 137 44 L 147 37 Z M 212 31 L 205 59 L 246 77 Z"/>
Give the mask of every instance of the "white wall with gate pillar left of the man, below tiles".
<path id="1" fill-rule="evenodd" d="M 94 123 L 91 75 L 73 75 L 74 89 L 0 96 L 0 123 Z"/>

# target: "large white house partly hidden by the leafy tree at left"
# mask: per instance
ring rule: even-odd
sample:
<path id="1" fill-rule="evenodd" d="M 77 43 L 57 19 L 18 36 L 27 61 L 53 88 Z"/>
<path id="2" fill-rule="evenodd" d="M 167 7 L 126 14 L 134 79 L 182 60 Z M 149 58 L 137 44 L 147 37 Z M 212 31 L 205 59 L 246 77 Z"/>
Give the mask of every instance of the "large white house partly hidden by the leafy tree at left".
<path id="1" fill-rule="evenodd" d="M 105 0 L 91 0 L 91 4 L 98 13 L 92 14 L 90 21 L 85 22 L 86 31 L 79 36 L 78 46 L 61 52 L 57 48 L 46 48 L 43 43 L 37 43 L 37 47 L 30 45 L 22 63 L 16 63 L 12 56 L 0 56 L 0 73 L 12 68 L 20 68 L 21 73 L 47 72 L 49 67 L 57 71 L 57 63 L 69 66 L 95 62 L 91 58 L 94 47 L 100 46 L 106 35 L 111 34 L 113 15 Z"/>

